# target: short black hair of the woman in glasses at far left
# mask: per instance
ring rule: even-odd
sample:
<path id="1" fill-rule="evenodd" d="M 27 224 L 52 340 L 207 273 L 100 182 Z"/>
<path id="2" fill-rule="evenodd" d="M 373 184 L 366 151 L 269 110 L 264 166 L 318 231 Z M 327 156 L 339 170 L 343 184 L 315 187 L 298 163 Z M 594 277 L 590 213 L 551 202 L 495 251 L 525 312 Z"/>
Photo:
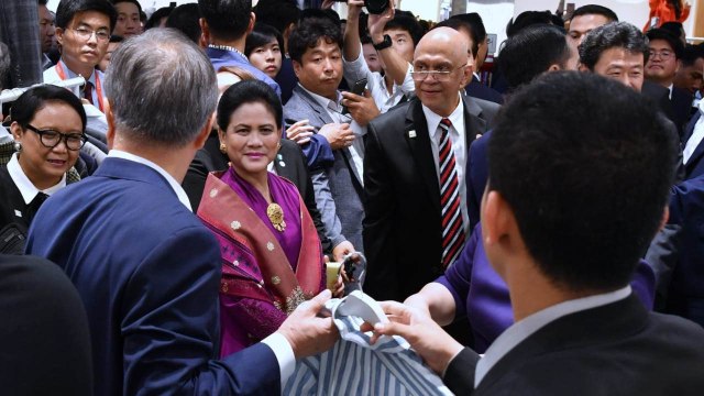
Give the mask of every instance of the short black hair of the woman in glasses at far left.
<path id="1" fill-rule="evenodd" d="M 10 119 L 16 121 L 22 127 L 32 123 L 34 114 L 40 111 L 47 102 L 63 102 L 76 110 L 82 124 L 81 132 L 86 131 L 86 110 L 84 106 L 72 91 L 66 88 L 57 87 L 51 84 L 41 85 L 28 89 L 18 100 L 12 103 L 10 110 Z"/>

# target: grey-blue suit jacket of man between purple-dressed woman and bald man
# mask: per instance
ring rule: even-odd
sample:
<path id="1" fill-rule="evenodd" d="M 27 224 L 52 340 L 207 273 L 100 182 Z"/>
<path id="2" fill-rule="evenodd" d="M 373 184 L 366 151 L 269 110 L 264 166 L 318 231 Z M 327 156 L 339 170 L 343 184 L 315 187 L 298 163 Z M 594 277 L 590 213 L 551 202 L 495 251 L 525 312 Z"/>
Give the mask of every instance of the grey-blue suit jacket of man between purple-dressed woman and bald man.
<path id="1" fill-rule="evenodd" d="M 334 121 L 328 111 L 300 86 L 294 88 L 294 95 L 284 107 L 284 118 L 295 121 L 308 119 L 316 128 L 310 142 L 304 146 L 304 153 L 308 156 L 316 202 L 322 216 L 327 237 L 332 241 L 333 246 L 348 240 L 356 251 L 363 252 L 362 175 L 358 173 L 349 148 L 332 151 L 327 140 L 317 134 L 322 125 Z M 327 157 L 328 153 L 332 161 L 321 160 Z M 318 160 L 315 158 L 316 156 Z"/>

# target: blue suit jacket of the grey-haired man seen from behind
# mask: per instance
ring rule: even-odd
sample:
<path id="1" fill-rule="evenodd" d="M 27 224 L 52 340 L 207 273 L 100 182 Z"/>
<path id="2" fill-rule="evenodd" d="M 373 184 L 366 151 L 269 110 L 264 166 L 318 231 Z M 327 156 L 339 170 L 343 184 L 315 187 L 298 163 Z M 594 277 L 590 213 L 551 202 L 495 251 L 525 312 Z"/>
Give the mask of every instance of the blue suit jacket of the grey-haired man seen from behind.
<path id="1" fill-rule="evenodd" d="M 58 264 L 86 305 L 96 395 L 278 392 L 265 344 L 213 360 L 218 242 L 156 170 L 108 157 L 33 226 L 26 251 Z"/>

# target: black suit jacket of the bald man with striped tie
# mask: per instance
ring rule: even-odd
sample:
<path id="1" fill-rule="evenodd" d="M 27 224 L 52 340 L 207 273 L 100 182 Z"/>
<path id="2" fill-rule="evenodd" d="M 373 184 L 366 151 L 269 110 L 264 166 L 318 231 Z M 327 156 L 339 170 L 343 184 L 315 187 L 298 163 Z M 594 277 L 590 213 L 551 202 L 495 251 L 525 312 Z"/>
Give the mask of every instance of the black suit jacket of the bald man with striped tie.
<path id="1" fill-rule="evenodd" d="M 462 98 L 465 147 L 484 133 L 498 105 Z M 415 138 L 409 135 L 415 131 Z M 365 293 L 403 301 L 442 274 L 440 186 L 418 98 L 369 124 L 364 158 Z M 468 158 L 469 162 L 469 158 Z"/>

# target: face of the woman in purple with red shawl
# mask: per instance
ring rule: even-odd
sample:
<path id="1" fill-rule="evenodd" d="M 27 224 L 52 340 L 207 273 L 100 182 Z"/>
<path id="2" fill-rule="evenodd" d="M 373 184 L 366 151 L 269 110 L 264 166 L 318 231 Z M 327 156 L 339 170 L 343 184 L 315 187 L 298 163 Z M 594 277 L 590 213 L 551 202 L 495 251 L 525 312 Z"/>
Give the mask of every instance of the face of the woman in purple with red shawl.
<path id="1" fill-rule="evenodd" d="M 228 129 L 219 136 L 238 175 L 248 180 L 266 177 L 266 165 L 278 152 L 280 131 L 264 103 L 249 102 L 237 108 Z"/>

